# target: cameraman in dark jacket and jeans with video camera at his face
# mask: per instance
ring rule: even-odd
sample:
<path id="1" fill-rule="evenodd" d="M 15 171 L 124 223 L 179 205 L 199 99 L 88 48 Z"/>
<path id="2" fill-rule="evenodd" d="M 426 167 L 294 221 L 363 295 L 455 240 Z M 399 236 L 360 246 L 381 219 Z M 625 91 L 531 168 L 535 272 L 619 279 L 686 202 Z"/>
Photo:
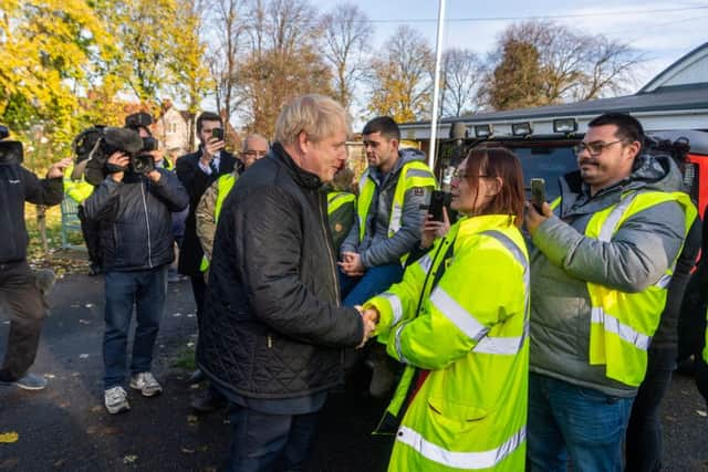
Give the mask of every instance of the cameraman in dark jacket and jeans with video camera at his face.
<path id="1" fill-rule="evenodd" d="M 110 413 L 117 413 L 131 408 L 123 382 L 134 304 L 137 327 L 129 385 L 145 397 L 162 392 L 150 364 L 165 305 L 167 266 L 175 256 L 171 212 L 186 208 L 189 196 L 174 174 L 155 167 L 135 130 L 106 128 L 100 149 L 108 156 L 106 177 L 84 209 L 100 224 L 106 296 L 104 401 Z"/>

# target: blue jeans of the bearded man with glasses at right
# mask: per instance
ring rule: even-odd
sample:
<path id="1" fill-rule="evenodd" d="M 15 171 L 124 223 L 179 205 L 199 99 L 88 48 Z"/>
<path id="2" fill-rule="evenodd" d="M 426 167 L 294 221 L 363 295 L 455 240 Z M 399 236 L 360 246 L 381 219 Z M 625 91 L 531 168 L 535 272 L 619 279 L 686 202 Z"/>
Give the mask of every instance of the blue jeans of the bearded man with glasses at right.
<path id="1" fill-rule="evenodd" d="M 531 373 L 527 470 L 621 472 L 633 401 Z"/>

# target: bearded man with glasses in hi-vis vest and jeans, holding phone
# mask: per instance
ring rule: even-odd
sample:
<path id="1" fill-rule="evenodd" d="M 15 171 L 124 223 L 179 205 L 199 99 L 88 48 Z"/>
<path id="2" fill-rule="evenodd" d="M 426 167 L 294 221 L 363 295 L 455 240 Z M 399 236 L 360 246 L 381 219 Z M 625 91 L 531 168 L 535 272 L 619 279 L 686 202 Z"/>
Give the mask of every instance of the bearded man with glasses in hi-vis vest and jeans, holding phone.
<path id="1" fill-rule="evenodd" d="M 621 471 L 632 402 L 696 208 L 668 156 L 642 153 L 629 115 L 591 120 L 579 170 L 541 212 L 531 248 L 528 464 Z"/>

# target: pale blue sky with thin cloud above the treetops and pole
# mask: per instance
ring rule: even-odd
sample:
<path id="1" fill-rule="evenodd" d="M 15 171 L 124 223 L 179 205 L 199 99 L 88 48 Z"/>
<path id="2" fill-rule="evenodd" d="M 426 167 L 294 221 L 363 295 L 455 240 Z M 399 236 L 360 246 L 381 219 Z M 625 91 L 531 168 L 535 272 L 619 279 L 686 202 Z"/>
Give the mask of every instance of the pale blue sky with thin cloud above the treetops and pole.
<path id="1" fill-rule="evenodd" d="M 341 1 L 317 0 L 326 11 Z M 381 45 L 399 24 L 419 29 L 435 46 L 438 0 L 356 0 L 375 28 Z M 702 1 L 550 1 L 447 0 L 444 48 L 490 52 L 499 33 L 513 22 L 548 18 L 579 33 L 602 33 L 628 43 L 649 59 L 637 71 L 637 87 L 681 55 L 708 41 L 708 2 Z M 632 91 L 634 92 L 634 90 Z"/>

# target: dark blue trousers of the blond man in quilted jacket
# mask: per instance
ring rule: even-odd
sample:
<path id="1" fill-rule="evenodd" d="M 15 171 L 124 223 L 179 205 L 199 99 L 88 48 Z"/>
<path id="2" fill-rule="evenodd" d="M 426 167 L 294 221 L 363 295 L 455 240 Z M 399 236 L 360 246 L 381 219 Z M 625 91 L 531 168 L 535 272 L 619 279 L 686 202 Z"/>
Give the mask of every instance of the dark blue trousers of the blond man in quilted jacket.
<path id="1" fill-rule="evenodd" d="M 229 472 L 301 471 L 312 449 L 320 412 L 270 415 L 232 405 Z"/>

